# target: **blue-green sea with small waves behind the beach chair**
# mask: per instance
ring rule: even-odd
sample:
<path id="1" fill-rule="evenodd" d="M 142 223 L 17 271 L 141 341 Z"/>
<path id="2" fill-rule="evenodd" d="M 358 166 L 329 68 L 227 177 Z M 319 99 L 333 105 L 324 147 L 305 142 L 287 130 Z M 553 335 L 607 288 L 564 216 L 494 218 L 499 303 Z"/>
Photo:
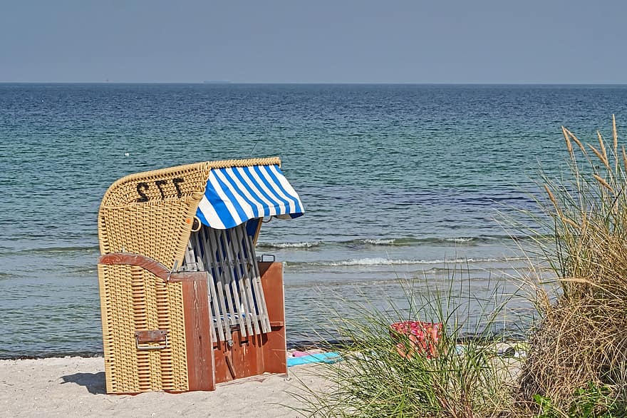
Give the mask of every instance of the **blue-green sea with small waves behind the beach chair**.
<path id="1" fill-rule="evenodd" d="M 532 273 L 509 220 L 564 173 L 561 126 L 594 142 L 612 114 L 623 138 L 627 86 L 0 84 L 0 357 L 101 354 L 105 190 L 203 160 L 279 156 L 304 203 L 257 247 L 284 262 L 289 345 L 403 311 L 408 285 L 476 319 Z"/>

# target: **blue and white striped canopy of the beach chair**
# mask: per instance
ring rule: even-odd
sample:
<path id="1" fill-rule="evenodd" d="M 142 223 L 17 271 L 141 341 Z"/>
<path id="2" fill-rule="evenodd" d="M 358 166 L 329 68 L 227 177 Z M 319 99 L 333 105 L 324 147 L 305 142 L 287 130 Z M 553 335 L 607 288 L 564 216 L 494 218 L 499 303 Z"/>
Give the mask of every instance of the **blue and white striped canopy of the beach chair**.
<path id="1" fill-rule="evenodd" d="M 196 215 L 204 225 L 228 229 L 249 219 L 296 218 L 304 212 L 279 165 L 252 165 L 212 169 Z"/>

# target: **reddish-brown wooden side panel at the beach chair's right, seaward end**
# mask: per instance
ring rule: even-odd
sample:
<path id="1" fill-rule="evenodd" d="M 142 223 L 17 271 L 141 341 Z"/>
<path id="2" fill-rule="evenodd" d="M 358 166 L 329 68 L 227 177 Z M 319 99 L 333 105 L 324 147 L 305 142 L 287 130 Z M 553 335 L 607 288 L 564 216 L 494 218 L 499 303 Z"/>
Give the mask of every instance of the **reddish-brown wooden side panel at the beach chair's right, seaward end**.
<path id="1" fill-rule="evenodd" d="M 283 264 L 259 262 L 271 332 L 264 337 L 264 371 L 287 373 Z"/>

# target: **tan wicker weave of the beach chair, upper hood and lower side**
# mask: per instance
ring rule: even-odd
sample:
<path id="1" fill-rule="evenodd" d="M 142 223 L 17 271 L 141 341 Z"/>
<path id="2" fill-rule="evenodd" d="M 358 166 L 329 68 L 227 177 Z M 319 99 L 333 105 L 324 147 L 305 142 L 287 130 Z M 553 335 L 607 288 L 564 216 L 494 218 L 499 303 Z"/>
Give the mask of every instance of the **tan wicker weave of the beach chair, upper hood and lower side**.
<path id="1" fill-rule="evenodd" d="M 169 268 L 181 265 L 210 170 L 269 164 L 280 160 L 195 163 L 121 178 L 100 205 L 100 253 L 136 253 Z M 107 392 L 188 390 L 182 285 L 129 265 L 98 265 L 98 280 Z M 168 347 L 138 350 L 138 330 L 167 330 Z"/>

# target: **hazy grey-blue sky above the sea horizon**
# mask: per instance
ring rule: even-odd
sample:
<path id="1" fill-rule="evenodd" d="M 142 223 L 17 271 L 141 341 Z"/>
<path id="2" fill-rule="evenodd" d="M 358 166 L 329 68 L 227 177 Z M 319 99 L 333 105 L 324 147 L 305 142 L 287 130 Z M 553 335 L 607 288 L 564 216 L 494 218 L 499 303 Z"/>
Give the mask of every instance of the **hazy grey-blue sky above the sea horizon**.
<path id="1" fill-rule="evenodd" d="M 0 82 L 627 83 L 627 2 L 0 2 Z"/>

